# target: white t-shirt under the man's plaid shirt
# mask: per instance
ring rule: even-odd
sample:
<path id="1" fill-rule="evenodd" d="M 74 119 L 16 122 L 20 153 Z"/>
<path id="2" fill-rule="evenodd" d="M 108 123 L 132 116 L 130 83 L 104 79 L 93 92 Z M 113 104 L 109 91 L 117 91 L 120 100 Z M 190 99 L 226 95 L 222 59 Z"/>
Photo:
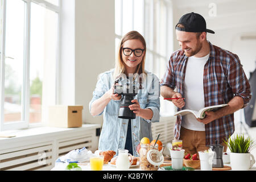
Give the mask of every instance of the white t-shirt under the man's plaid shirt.
<path id="1" fill-rule="evenodd" d="M 184 109 L 200 110 L 204 107 L 204 65 L 209 55 L 204 57 L 188 57 L 184 81 Z M 205 131 L 204 123 L 196 120 L 193 114 L 182 117 L 181 126 L 185 129 Z"/>

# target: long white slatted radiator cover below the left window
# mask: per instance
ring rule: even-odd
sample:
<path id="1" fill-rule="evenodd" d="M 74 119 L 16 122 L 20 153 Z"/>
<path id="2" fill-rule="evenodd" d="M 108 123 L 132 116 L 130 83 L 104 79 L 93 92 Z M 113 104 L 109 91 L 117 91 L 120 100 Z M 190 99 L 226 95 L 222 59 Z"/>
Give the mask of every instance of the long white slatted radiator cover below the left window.
<path id="1" fill-rule="evenodd" d="M 96 136 L 98 127 L 100 125 L 88 125 L 88 127 L 84 125 L 76 129 L 45 127 L 31 129 L 28 133 L 33 135 L 24 138 L 2 139 L 0 171 L 50 170 L 55 166 L 55 160 L 69 151 L 86 147 L 87 150 L 94 152 L 98 148 L 98 136 Z M 36 132 L 37 135 L 34 134 Z"/>

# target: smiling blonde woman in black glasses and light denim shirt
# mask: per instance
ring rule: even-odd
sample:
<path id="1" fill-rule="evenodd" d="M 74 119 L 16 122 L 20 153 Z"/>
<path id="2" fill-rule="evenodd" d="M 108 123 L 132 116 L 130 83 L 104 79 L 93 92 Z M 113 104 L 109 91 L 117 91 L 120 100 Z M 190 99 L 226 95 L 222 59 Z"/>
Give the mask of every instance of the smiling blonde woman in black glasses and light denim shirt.
<path id="1" fill-rule="evenodd" d="M 119 44 L 115 69 L 99 76 L 89 104 L 93 116 L 104 113 L 99 150 L 118 152 L 118 148 L 125 148 L 130 154 L 137 155 L 136 147 L 141 138 L 152 140 L 151 122 L 159 122 L 159 79 L 144 71 L 145 55 L 143 36 L 137 31 L 128 32 Z M 136 118 L 122 119 L 118 118 L 122 94 L 114 94 L 114 83 L 126 85 L 129 81 L 141 86 L 131 101 L 134 104 L 129 105 Z"/>

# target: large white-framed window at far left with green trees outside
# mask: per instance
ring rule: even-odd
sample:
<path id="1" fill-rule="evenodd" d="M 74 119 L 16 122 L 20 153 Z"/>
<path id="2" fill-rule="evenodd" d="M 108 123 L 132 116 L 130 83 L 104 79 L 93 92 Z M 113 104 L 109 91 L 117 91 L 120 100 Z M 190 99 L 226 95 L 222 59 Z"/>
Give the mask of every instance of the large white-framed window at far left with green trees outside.
<path id="1" fill-rule="evenodd" d="M 0 130 L 21 129 L 55 104 L 59 0 L 0 2 Z"/>

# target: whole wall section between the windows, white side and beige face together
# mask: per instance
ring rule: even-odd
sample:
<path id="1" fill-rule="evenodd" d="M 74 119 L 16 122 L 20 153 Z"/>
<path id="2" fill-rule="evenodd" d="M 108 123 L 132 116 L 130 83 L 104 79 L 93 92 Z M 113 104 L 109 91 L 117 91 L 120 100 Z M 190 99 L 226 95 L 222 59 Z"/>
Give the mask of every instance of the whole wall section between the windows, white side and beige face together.
<path id="1" fill-rule="evenodd" d="M 83 105 L 83 122 L 102 123 L 102 117 L 90 115 L 89 102 L 97 76 L 114 67 L 114 0 L 76 0 L 75 3 L 63 0 L 61 3 L 64 32 L 58 104 Z"/>

